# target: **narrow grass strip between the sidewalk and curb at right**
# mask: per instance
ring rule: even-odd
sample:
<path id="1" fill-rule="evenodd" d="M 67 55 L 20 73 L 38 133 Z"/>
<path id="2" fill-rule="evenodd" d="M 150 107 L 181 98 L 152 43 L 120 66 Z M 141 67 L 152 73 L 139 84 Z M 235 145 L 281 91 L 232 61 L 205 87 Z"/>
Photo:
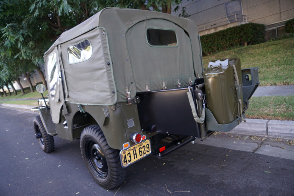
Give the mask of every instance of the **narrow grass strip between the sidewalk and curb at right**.
<path id="1" fill-rule="evenodd" d="M 246 118 L 294 121 L 294 96 L 251 97 Z"/>

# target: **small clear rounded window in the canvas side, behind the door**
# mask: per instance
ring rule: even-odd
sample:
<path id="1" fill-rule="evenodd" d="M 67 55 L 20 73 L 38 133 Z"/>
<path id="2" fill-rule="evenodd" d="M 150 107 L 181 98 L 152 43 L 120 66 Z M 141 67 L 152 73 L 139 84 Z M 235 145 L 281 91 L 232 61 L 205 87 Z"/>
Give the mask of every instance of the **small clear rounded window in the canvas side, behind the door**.
<path id="1" fill-rule="evenodd" d="M 83 40 L 73 46 L 68 47 L 69 64 L 86 61 L 92 56 L 92 46 L 89 40 Z"/>

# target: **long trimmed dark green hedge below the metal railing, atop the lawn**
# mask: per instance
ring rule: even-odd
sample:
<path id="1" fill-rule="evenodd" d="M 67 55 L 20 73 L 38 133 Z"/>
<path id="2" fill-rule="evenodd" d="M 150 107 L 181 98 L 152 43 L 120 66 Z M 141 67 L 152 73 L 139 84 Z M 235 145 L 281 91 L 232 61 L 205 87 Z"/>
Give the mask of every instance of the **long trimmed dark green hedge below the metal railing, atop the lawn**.
<path id="1" fill-rule="evenodd" d="M 265 25 L 248 23 L 200 36 L 202 55 L 264 42 Z"/>

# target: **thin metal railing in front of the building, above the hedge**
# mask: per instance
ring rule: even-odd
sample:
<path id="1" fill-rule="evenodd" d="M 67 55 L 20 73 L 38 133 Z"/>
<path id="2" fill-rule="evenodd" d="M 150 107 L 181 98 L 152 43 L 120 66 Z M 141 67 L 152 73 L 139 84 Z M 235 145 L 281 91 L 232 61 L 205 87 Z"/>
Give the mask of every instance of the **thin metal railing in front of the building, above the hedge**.
<path id="1" fill-rule="evenodd" d="M 200 25 L 197 25 L 197 28 L 198 28 L 198 31 L 203 31 L 203 30 L 210 29 L 211 27 L 214 28 L 221 25 L 227 25 L 230 23 L 234 23 L 236 21 L 247 22 L 247 17 L 246 15 L 242 15 L 242 14 L 232 14 L 229 16 L 221 17 L 212 21 L 202 23 Z"/>

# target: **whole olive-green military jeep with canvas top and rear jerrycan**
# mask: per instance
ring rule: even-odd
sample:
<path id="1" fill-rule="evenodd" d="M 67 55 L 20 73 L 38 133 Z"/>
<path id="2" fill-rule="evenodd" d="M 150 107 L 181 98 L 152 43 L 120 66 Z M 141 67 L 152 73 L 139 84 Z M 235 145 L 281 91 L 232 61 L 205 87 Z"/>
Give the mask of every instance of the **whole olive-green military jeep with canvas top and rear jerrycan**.
<path id="1" fill-rule="evenodd" d="M 203 71 L 195 23 L 152 11 L 103 9 L 62 33 L 44 60 L 49 105 L 34 119 L 40 146 L 49 153 L 54 135 L 80 139 L 105 189 L 149 154 L 160 158 L 233 129 L 259 84 L 258 68 L 241 70 L 239 58 Z"/>

